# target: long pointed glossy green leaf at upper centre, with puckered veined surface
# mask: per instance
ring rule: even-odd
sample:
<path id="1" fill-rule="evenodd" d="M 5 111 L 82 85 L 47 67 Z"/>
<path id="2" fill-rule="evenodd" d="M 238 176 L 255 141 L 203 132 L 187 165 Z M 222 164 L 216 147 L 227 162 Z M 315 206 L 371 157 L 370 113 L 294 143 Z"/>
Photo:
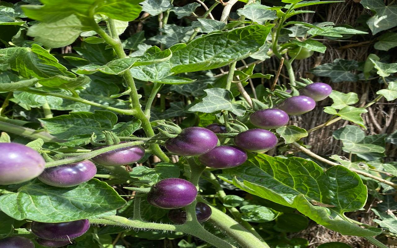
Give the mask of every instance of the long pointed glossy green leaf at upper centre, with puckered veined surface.
<path id="1" fill-rule="evenodd" d="M 209 70 L 247 58 L 258 52 L 272 27 L 273 25 L 249 25 L 197 38 L 173 53 L 170 60 L 172 71 L 182 73 Z"/>

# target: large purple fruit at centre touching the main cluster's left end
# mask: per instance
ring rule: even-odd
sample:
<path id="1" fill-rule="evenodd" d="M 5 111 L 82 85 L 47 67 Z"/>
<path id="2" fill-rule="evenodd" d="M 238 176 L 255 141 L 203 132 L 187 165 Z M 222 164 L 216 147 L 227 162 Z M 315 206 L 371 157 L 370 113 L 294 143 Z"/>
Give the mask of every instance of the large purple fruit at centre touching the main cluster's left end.
<path id="1" fill-rule="evenodd" d="M 188 127 L 166 141 L 168 151 L 180 156 L 197 156 L 209 152 L 218 143 L 214 132 L 204 127 Z"/>

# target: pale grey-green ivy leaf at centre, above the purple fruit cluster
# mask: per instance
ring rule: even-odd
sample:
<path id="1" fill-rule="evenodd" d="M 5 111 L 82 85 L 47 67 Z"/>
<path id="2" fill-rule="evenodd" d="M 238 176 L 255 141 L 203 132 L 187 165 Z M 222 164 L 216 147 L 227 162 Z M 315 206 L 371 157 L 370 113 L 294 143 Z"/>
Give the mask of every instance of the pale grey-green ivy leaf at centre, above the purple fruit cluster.
<path id="1" fill-rule="evenodd" d="M 202 98 L 201 102 L 189 108 L 189 111 L 213 113 L 220 110 L 228 110 L 237 116 L 243 116 L 247 110 L 241 104 L 231 103 L 233 95 L 229 90 L 223 88 L 209 88 L 204 91 L 207 93 L 207 96 Z"/>

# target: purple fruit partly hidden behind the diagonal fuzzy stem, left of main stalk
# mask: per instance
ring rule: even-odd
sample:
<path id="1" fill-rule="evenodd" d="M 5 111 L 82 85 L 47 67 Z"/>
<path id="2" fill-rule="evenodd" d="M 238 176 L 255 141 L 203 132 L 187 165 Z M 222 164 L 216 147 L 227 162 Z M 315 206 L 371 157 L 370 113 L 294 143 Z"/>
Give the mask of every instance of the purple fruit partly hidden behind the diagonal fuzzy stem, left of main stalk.
<path id="1" fill-rule="evenodd" d="M 125 143 L 122 141 L 120 143 Z M 94 150 L 104 148 L 99 146 Z M 127 146 L 113 151 L 102 153 L 92 158 L 96 163 L 106 166 L 120 166 L 135 163 L 145 156 L 145 149 L 142 146 Z"/>

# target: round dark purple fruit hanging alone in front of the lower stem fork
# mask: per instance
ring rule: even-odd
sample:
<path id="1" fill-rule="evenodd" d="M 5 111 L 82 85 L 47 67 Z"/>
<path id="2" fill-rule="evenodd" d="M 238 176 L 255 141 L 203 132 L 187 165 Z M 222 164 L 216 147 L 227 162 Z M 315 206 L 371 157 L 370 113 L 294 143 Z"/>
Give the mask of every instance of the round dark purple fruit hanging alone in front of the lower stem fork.
<path id="1" fill-rule="evenodd" d="M 167 178 L 150 189 L 148 202 L 158 208 L 183 208 L 196 199 L 197 188 L 193 183 L 180 178 Z"/>

